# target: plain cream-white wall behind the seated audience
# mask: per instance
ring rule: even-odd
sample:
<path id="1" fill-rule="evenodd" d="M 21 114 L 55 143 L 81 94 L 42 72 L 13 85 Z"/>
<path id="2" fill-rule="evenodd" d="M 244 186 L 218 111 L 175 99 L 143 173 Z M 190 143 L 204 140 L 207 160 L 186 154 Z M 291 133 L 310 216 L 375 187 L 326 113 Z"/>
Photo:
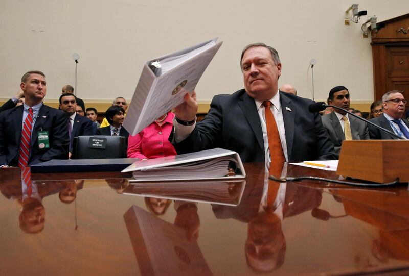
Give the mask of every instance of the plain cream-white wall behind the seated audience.
<path id="1" fill-rule="evenodd" d="M 356 3 L 378 21 L 409 10 L 402 10 L 408 7 L 407 0 Z M 292 83 L 300 96 L 312 98 L 307 69 L 315 58 L 315 99 L 326 99 L 332 87 L 344 85 L 353 100 L 370 102 L 371 40 L 362 38 L 360 30 L 367 16 L 345 26 L 344 12 L 351 4 L 346 0 L 0 0 L 0 99 L 16 93 L 28 70 L 46 73 L 47 99 L 58 98 L 63 85 L 74 84 L 74 52 L 80 54 L 77 96 L 94 101 L 116 95 L 130 99 L 147 60 L 218 36 L 224 43 L 196 89 L 201 101 L 242 88 L 241 49 L 265 42 L 280 54 L 279 84 Z M 316 42 L 308 42 L 311 39 Z"/>

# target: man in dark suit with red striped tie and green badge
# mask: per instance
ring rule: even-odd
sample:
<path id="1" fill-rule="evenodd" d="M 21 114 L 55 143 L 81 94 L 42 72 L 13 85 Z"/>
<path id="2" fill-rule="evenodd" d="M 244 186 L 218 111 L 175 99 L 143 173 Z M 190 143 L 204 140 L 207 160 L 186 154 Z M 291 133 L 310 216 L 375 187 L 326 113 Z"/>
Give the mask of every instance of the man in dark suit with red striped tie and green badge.
<path id="1" fill-rule="evenodd" d="M 20 87 L 24 91 L 25 104 L 0 113 L 0 166 L 19 164 L 25 167 L 52 159 L 67 159 L 66 116 L 42 103 L 47 92 L 44 73 L 25 73 Z M 30 128 L 26 123 L 29 118 L 32 121 Z M 21 134 L 22 127 L 28 136 L 24 142 L 21 142 L 21 136 L 25 136 Z"/>

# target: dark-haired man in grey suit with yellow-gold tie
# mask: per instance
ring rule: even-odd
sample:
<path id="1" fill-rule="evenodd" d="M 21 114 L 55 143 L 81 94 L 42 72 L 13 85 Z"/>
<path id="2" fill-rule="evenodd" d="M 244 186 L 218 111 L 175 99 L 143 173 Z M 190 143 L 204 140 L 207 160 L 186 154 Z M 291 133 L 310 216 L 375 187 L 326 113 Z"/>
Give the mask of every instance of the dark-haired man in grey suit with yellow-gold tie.
<path id="1" fill-rule="evenodd" d="M 350 105 L 348 89 L 344 86 L 332 88 L 329 92 L 329 104 L 348 110 Z M 332 113 L 322 116 L 321 119 L 338 156 L 344 140 L 369 139 L 367 123 L 347 115 L 345 111 L 334 108 Z"/>

